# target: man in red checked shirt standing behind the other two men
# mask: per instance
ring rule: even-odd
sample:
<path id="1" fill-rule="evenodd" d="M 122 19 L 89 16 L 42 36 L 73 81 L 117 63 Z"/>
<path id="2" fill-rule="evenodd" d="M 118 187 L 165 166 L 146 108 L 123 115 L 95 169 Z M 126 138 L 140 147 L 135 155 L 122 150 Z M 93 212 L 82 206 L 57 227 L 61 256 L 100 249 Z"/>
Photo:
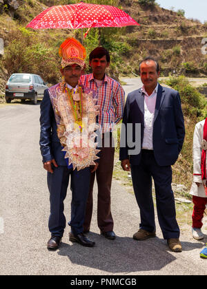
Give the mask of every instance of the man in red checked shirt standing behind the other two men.
<path id="1" fill-rule="evenodd" d="M 98 226 L 101 235 L 107 239 L 115 239 L 114 222 L 110 210 L 110 189 L 115 155 L 112 129 L 122 119 L 125 93 L 117 81 L 106 75 L 106 68 L 110 65 L 110 54 L 105 48 L 97 47 L 92 50 L 89 56 L 89 64 L 92 67 L 92 74 L 81 76 L 80 81 L 83 85 L 94 89 L 98 93 L 98 105 L 100 107 L 98 121 L 101 126 L 102 147 L 99 167 L 95 173 L 92 173 L 90 179 L 90 192 L 83 230 L 85 233 L 90 231 L 92 191 L 96 175 L 98 185 Z"/>

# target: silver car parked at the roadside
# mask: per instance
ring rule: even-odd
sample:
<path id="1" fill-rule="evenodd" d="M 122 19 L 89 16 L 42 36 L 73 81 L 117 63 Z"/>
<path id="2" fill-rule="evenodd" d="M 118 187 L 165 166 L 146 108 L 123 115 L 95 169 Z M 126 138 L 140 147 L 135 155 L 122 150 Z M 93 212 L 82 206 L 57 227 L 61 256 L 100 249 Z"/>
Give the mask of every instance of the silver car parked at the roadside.
<path id="1" fill-rule="evenodd" d="M 12 99 L 31 99 L 37 105 L 37 98 L 43 98 L 44 90 L 48 86 L 37 74 L 15 73 L 6 83 L 5 98 L 10 103 Z"/>

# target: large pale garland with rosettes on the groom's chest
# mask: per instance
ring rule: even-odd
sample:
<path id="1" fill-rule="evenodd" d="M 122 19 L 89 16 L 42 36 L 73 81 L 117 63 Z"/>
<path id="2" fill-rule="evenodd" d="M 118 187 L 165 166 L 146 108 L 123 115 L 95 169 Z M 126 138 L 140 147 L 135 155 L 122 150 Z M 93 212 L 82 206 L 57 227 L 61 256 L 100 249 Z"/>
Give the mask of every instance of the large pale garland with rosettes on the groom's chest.
<path id="1" fill-rule="evenodd" d="M 99 114 L 97 99 L 92 97 L 92 92 L 83 93 L 81 87 L 79 87 L 79 95 L 72 95 L 65 82 L 60 84 L 54 96 L 52 103 L 61 118 L 57 124 L 57 133 L 68 166 L 72 164 L 73 169 L 79 171 L 94 165 L 94 161 L 99 158 L 97 157 L 99 150 L 95 142 L 97 136 L 95 130 L 99 129 L 95 123 L 96 116 Z"/>

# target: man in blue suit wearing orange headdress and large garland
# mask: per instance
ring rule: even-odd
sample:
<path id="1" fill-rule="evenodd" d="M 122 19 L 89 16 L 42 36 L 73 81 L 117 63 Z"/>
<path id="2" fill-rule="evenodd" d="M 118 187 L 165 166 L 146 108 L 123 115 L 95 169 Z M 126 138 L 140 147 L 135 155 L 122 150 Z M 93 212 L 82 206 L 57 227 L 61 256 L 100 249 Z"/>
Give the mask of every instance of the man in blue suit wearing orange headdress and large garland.
<path id="1" fill-rule="evenodd" d="M 79 52 L 79 57 L 68 54 L 71 46 Z M 48 171 L 48 189 L 50 191 L 49 231 L 51 237 L 47 247 L 56 250 L 61 243 L 66 227 L 63 214 L 63 201 L 66 198 L 70 178 L 72 191 L 71 227 L 69 239 L 82 246 L 92 247 L 91 242 L 83 235 L 83 222 L 88 200 L 90 173 L 97 169 L 95 137 L 92 129 L 87 132 L 90 147 L 82 146 L 84 127 L 93 125 L 97 115 L 95 92 L 78 85 L 79 77 L 85 66 L 85 48 L 75 39 L 66 39 L 61 45 L 61 74 L 63 82 L 46 89 L 41 101 L 41 134 L 40 148 L 43 157 L 43 168 Z M 89 118 L 88 118 L 89 116 Z M 92 122 L 92 123 L 90 123 Z M 94 139 L 94 142 L 92 142 Z M 79 144 L 77 142 L 79 140 Z M 81 143 L 81 144 L 80 144 Z M 90 167 L 90 165 L 94 165 Z"/>

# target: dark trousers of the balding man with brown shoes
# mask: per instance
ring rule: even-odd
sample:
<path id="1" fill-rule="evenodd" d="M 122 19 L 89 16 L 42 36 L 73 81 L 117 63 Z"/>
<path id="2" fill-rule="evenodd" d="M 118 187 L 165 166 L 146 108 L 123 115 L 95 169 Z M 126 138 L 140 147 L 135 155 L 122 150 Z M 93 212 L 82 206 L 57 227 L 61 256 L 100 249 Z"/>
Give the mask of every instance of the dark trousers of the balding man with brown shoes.
<path id="1" fill-rule="evenodd" d="M 164 239 L 179 238 L 175 198 L 172 192 L 172 169 L 160 167 L 153 151 L 141 150 L 139 165 L 131 165 L 132 184 L 140 209 L 140 228 L 155 231 L 155 210 L 152 200 L 152 178 L 155 182 L 157 215 Z"/>

